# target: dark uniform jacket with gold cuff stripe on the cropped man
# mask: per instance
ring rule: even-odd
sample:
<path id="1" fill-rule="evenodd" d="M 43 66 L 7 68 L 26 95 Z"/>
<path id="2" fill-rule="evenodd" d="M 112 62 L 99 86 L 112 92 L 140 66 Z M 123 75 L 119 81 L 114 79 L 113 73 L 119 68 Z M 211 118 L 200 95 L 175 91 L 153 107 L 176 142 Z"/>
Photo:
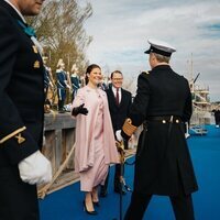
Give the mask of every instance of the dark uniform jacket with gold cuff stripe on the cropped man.
<path id="1" fill-rule="evenodd" d="M 18 164 L 42 144 L 43 63 L 18 20 L 23 22 L 0 1 L 0 167 Z M 19 143 L 19 135 L 25 141 Z"/>

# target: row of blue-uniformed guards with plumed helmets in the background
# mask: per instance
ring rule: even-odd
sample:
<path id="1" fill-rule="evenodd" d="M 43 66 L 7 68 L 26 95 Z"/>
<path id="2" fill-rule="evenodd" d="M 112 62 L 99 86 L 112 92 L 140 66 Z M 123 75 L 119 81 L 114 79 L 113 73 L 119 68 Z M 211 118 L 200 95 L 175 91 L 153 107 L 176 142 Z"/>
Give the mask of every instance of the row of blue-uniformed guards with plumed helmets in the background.
<path id="1" fill-rule="evenodd" d="M 50 113 L 52 107 L 53 110 L 64 113 L 70 110 L 77 90 L 85 86 L 85 74 L 79 73 L 76 64 L 73 64 L 70 72 L 68 72 L 62 58 L 58 59 L 57 68 L 53 73 L 52 68 L 47 65 L 47 61 L 48 57 L 44 54 L 45 113 Z M 99 87 L 106 90 L 108 82 L 107 77 L 103 77 Z"/>

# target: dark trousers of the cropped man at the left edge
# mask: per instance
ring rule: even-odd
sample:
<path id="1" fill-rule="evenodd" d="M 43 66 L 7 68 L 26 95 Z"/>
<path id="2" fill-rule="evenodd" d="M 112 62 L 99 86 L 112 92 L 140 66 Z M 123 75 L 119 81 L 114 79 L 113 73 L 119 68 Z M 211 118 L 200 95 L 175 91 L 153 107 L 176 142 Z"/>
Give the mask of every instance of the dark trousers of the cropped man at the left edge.
<path id="1" fill-rule="evenodd" d="M 18 166 L 0 167 L 0 220 L 38 220 L 36 186 L 21 180 Z"/>

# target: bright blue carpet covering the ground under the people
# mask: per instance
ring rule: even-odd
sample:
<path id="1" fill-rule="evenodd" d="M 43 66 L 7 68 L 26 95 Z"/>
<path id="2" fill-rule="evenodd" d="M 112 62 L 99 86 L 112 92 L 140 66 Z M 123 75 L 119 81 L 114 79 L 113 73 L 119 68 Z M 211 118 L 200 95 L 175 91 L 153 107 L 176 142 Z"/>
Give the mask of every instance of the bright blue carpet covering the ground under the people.
<path id="1" fill-rule="evenodd" d="M 193 195 L 196 220 L 220 219 L 220 129 L 207 127 L 207 135 L 191 135 L 187 141 L 197 176 L 199 191 Z M 132 161 L 133 158 L 130 158 Z M 113 193 L 113 172 L 111 167 L 109 194 L 100 198 L 98 216 L 88 216 L 82 210 L 84 194 L 79 183 L 55 191 L 40 200 L 41 220 L 112 220 L 119 219 L 119 196 Z M 125 180 L 132 186 L 133 166 L 125 166 Z M 123 196 L 123 213 L 130 202 L 131 194 Z M 168 197 L 154 196 L 145 212 L 144 220 L 174 220 Z"/>

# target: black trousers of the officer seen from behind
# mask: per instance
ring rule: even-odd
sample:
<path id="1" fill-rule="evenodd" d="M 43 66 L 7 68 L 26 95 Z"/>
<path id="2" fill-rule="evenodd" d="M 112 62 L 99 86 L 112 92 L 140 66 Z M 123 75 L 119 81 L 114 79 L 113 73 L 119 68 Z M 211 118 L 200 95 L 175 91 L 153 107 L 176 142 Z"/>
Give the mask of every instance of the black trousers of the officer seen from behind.
<path id="1" fill-rule="evenodd" d="M 142 220 L 152 195 L 134 191 L 124 220 Z M 191 195 L 169 196 L 176 220 L 195 220 Z"/>

